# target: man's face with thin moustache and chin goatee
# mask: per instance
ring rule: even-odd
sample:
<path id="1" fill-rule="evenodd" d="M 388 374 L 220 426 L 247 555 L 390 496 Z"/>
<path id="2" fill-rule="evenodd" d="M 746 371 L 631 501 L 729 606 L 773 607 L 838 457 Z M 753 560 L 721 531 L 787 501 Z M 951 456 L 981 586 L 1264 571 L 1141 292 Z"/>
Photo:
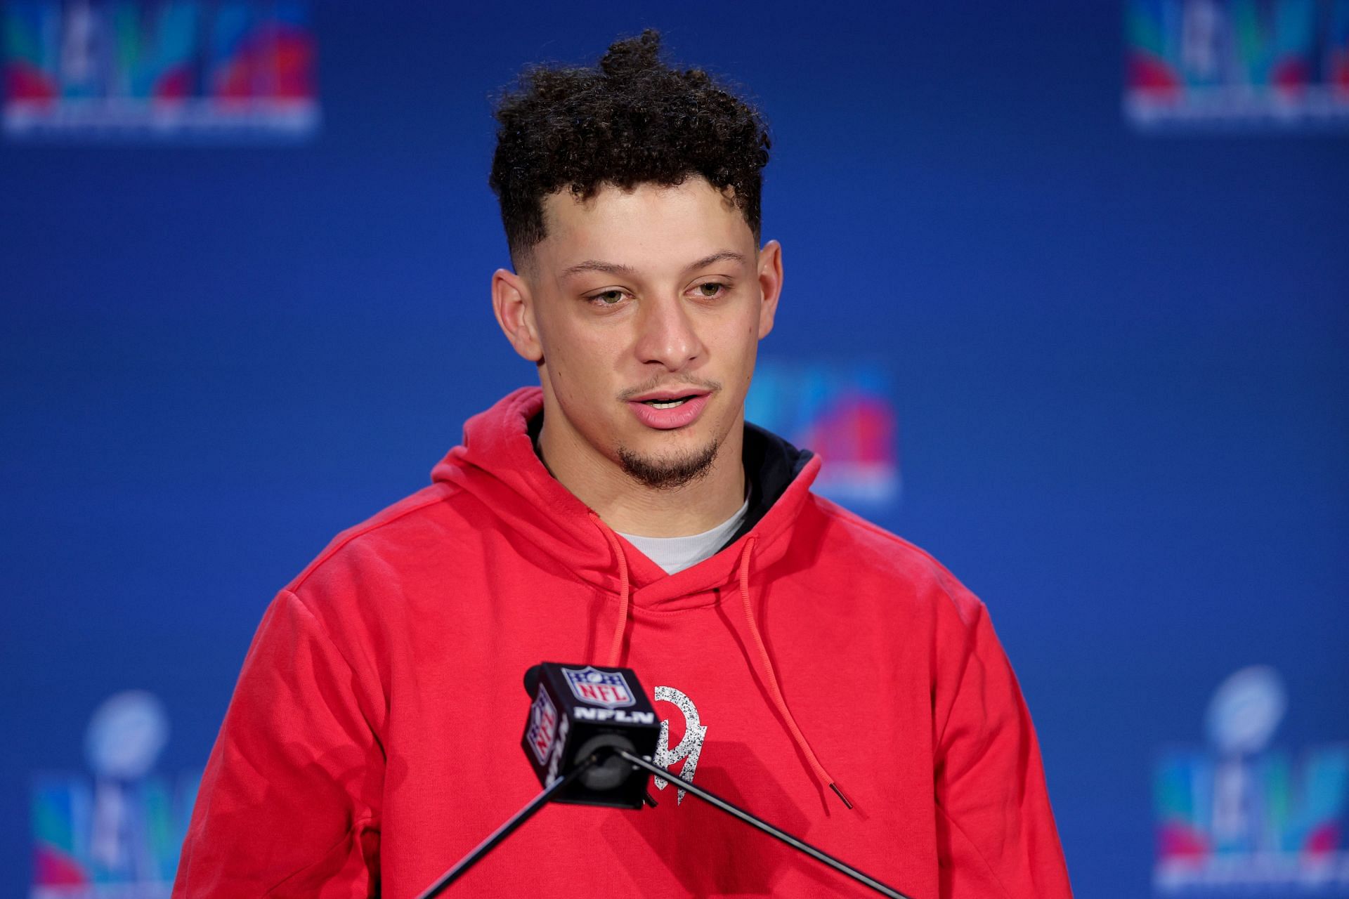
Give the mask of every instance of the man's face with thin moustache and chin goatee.
<path id="1" fill-rule="evenodd" d="M 561 191 L 544 214 L 548 237 L 521 274 L 550 445 L 665 488 L 706 472 L 728 435 L 738 452 L 781 284 L 777 244 L 761 253 L 701 178 L 584 202 Z"/>

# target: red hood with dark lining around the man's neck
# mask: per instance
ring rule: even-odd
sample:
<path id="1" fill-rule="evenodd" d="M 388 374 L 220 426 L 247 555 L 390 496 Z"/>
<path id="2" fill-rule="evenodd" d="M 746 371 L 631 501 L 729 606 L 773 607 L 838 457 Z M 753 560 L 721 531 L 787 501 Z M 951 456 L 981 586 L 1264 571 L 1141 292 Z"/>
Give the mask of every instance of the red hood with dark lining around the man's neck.
<path id="1" fill-rule="evenodd" d="M 541 388 L 509 394 L 468 419 L 463 445 L 432 469 L 432 478 L 479 499 L 519 534 L 522 554 L 550 557 L 596 588 L 619 593 L 622 577 L 607 528 L 548 473 L 534 453 L 529 425 L 542 411 Z M 665 611 L 704 605 L 707 600 L 700 594 L 737 584 L 741 551 L 750 538 L 758 571 L 786 554 L 792 526 L 809 499 L 820 461 L 759 427 L 746 425 L 745 430 L 750 511 L 741 530 L 712 558 L 677 574 L 665 574 L 623 540 L 634 605 Z"/>

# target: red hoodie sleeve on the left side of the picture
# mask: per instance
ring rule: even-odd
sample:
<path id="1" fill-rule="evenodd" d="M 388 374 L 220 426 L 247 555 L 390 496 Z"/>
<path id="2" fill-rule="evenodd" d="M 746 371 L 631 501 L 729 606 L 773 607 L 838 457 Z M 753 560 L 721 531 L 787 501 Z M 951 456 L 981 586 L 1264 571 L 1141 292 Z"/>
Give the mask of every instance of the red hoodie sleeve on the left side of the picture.
<path id="1" fill-rule="evenodd" d="M 202 775 L 174 899 L 378 895 L 374 686 L 295 594 L 277 596 Z"/>

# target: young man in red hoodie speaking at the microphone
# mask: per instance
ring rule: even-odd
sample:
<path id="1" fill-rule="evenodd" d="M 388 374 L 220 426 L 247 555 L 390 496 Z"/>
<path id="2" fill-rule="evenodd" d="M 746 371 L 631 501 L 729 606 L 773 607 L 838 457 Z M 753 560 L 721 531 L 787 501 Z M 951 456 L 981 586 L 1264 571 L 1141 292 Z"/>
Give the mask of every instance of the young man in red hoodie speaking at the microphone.
<path id="1" fill-rule="evenodd" d="M 648 32 L 498 119 L 492 305 L 541 388 L 277 597 L 174 895 L 417 895 L 537 793 L 521 674 L 558 660 L 635 669 L 660 763 L 916 899 L 1068 896 L 983 605 L 743 421 L 782 288 L 758 115 Z M 867 895 L 680 783 L 550 806 L 451 895 Z"/>

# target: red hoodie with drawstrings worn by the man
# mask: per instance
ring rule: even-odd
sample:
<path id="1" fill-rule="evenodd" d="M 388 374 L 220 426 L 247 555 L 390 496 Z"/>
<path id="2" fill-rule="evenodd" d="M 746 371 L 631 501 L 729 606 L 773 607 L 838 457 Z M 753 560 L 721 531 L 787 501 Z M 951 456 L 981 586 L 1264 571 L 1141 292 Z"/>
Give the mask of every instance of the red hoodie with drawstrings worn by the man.
<path id="1" fill-rule="evenodd" d="M 683 778 L 913 899 L 1071 895 L 978 598 L 811 493 L 805 453 L 747 534 L 668 576 L 548 474 L 541 408 L 530 388 L 472 418 L 430 487 L 275 598 L 174 896 L 415 896 L 538 791 L 519 740 L 541 660 L 634 669 Z M 549 806 L 445 895 L 874 895 L 677 786 Z"/>

